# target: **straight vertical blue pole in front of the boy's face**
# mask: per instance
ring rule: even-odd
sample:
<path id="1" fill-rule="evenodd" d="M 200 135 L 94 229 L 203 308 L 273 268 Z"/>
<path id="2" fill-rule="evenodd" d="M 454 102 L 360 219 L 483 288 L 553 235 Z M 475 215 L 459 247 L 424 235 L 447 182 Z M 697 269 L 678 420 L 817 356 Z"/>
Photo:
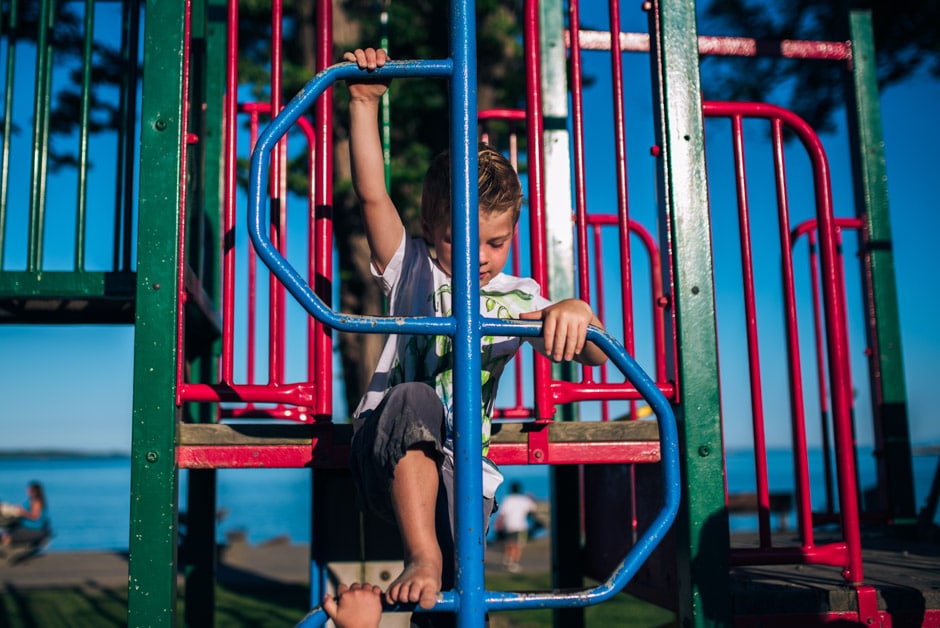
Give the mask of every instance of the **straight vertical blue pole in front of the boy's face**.
<path id="1" fill-rule="evenodd" d="M 454 289 L 454 465 L 457 626 L 483 626 L 483 480 L 480 456 L 480 275 L 473 0 L 452 0 L 450 54 Z"/>

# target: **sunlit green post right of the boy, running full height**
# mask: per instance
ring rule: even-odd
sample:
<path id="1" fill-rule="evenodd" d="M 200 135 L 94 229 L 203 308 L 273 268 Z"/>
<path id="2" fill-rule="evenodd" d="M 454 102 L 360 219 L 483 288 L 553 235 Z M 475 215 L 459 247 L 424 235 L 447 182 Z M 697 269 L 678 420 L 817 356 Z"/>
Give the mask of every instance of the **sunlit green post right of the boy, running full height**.
<path id="1" fill-rule="evenodd" d="M 681 399 L 676 408 L 683 460 L 676 527 L 679 622 L 729 625 L 728 514 L 695 2 L 654 0 L 650 8 L 661 233 L 663 250 L 672 251 Z"/>

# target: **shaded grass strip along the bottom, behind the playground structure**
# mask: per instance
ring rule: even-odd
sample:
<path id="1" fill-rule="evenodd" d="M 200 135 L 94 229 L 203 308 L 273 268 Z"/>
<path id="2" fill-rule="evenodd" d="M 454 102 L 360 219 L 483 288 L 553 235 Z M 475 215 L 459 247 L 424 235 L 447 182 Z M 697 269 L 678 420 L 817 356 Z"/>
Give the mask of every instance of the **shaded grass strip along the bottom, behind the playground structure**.
<path id="1" fill-rule="evenodd" d="M 497 591 L 544 590 L 548 575 L 487 576 L 487 587 Z M 235 590 L 216 587 L 215 625 L 225 628 L 280 628 L 293 626 L 307 612 L 306 587 Z M 629 595 L 586 609 L 588 628 L 662 628 L 675 625 L 669 611 Z M 180 601 L 178 622 L 183 623 Z M 127 591 L 93 586 L 65 589 L 17 589 L 8 586 L 0 595 L 0 628 L 109 628 L 127 625 Z M 493 613 L 490 628 L 550 628 L 552 611 Z"/>

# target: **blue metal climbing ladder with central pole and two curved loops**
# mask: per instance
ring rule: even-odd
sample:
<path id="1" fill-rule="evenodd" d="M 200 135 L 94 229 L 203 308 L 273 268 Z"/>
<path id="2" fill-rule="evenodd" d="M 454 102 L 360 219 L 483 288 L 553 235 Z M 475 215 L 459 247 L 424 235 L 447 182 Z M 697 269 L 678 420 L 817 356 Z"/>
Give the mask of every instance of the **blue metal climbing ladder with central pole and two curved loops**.
<path id="1" fill-rule="evenodd" d="M 455 58 L 460 55 L 455 55 Z M 454 312 L 451 317 L 373 317 L 350 316 L 334 312 L 316 295 L 310 284 L 277 250 L 265 233 L 267 224 L 266 198 L 268 165 L 277 142 L 313 102 L 335 81 L 361 78 L 362 70 L 351 63 L 332 66 L 317 74 L 295 96 L 261 133 L 251 156 L 249 175 L 248 231 L 261 260 L 281 281 L 298 303 L 320 322 L 341 331 L 361 333 L 397 333 L 447 335 L 454 338 L 455 354 L 461 356 L 455 364 L 455 465 L 457 487 L 457 587 L 441 593 L 435 611 L 459 612 L 458 625 L 483 624 L 489 610 L 519 610 L 527 608 L 571 608 L 596 604 L 609 599 L 626 586 L 643 562 L 663 538 L 675 520 L 679 507 L 679 450 L 675 418 L 669 402 L 652 379 L 639 367 L 610 334 L 597 328 L 588 329 L 588 340 L 596 343 L 610 357 L 627 380 L 632 383 L 656 415 L 661 442 L 661 469 L 664 485 L 664 504 L 652 524 L 629 550 L 623 562 L 611 577 L 593 588 L 553 592 L 495 592 L 486 591 L 483 579 L 483 530 L 473 526 L 464 529 L 462 522 L 476 521 L 482 509 L 480 430 L 479 425 L 479 340 L 481 335 L 535 337 L 541 334 L 538 322 L 497 321 L 479 313 L 479 266 L 476 246 L 476 178 L 469 172 L 476 170 L 476 142 L 470 142 L 468 112 L 475 119 L 475 105 L 470 104 L 467 81 L 475 75 L 466 70 L 454 77 L 454 67 L 466 68 L 466 59 L 452 63 L 444 61 L 394 61 L 376 70 L 376 78 L 430 77 L 451 78 L 458 84 L 457 98 L 452 98 L 452 125 L 462 127 L 463 138 L 454 138 L 452 157 L 459 167 L 454 173 Z M 453 96 L 453 93 L 452 93 Z M 456 124 L 455 124 L 456 123 Z M 461 141 L 462 140 L 462 141 Z M 472 147 L 472 148 L 471 148 Z M 472 166 L 472 168 L 471 168 Z M 462 221 L 462 222 L 461 222 Z M 458 339 L 462 339 L 458 346 Z M 461 350 L 462 349 L 462 350 Z M 473 385 L 471 377 L 476 378 Z M 462 380 L 462 381 L 461 381 Z M 462 399 L 460 398 L 462 397 Z M 475 401 L 474 401 L 475 398 Z M 474 435 L 476 439 L 474 439 Z M 625 533 L 627 533 L 625 531 Z M 391 610 L 407 610 L 406 607 Z M 312 610 L 298 624 L 319 626 L 326 621 L 321 608 Z"/>

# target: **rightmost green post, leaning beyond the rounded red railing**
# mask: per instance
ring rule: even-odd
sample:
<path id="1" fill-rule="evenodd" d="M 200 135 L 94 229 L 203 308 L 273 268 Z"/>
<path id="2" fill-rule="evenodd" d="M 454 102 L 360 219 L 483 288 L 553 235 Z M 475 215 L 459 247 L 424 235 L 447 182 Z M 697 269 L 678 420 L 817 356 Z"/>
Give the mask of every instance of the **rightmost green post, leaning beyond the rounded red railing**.
<path id="1" fill-rule="evenodd" d="M 907 417 L 901 326 L 898 315 L 894 252 L 888 212 L 881 106 L 871 11 L 849 11 L 852 41 L 850 102 L 847 106 L 855 171 L 856 213 L 865 221 L 862 256 L 869 321 L 868 347 L 872 414 L 875 422 L 878 486 L 882 505 L 895 522 L 913 523 L 916 516 L 911 436 Z"/>

